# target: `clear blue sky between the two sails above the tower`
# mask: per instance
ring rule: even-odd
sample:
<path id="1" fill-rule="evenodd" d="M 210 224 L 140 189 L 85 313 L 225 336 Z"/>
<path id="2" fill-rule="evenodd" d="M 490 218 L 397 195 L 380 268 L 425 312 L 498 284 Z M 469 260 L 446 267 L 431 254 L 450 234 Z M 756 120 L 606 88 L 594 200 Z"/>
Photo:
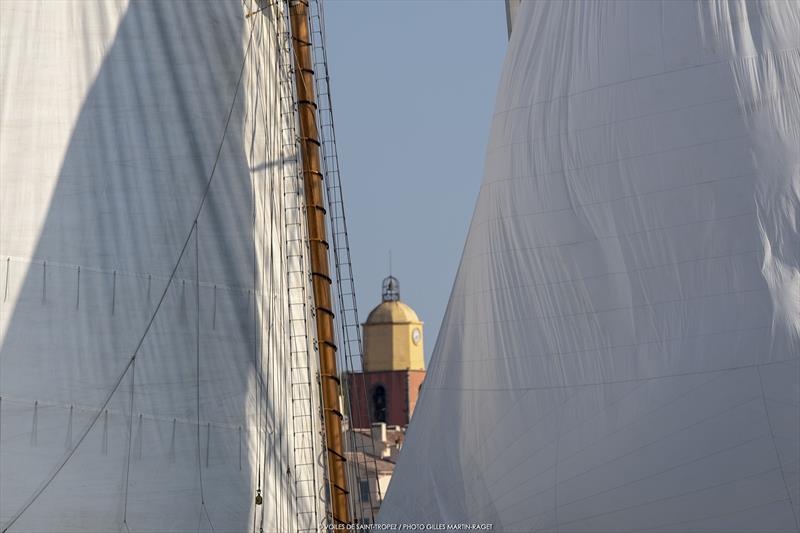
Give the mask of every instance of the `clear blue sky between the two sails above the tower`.
<path id="1" fill-rule="evenodd" d="M 482 178 L 505 3 L 324 5 L 359 318 L 380 302 L 391 250 L 429 359 Z"/>

